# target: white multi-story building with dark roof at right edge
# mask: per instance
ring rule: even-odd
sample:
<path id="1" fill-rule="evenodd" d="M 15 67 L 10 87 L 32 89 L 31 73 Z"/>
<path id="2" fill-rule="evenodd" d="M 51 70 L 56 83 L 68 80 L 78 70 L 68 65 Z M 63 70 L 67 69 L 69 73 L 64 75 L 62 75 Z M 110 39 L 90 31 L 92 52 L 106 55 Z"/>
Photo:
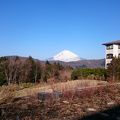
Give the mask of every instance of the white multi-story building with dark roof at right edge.
<path id="1" fill-rule="evenodd" d="M 113 57 L 120 57 L 120 40 L 104 43 L 106 46 L 105 68 L 110 64 Z"/>

